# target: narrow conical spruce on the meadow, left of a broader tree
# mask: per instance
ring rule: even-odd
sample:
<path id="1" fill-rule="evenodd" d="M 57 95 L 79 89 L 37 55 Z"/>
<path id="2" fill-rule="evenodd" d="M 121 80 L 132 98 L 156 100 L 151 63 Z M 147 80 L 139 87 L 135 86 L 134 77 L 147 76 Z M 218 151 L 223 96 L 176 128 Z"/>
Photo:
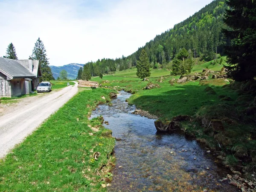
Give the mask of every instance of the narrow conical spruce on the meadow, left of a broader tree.
<path id="1" fill-rule="evenodd" d="M 148 59 L 148 54 L 145 51 L 145 49 L 143 49 L 141 51 L 140 54 L 140 59 L 137 62 L 137 77 L 139 77 L 140 79 L 144 79 L 146 77 L 150 76 L 150 64 L 149 64 L 149 59 Z"/>

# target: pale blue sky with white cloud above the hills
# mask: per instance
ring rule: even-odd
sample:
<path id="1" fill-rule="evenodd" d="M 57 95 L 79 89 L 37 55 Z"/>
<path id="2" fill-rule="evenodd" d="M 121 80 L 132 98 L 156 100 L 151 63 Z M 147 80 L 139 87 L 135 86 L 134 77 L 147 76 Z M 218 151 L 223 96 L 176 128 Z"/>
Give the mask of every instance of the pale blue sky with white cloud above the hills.
<path id="1" fill-rule="evenodd" d="M 0 56 L 19 59 L 38 37 L 50 65 L 128 56 L 212 0 L 0 0 Z"/>

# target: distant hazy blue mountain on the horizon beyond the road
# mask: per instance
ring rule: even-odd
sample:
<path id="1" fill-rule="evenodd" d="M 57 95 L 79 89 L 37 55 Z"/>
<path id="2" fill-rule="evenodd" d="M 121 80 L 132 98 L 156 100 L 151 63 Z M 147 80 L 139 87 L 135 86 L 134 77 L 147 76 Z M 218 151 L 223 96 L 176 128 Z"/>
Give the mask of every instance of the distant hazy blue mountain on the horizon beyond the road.
<path id="1" fill-rule="evenodd" d="M 67 71 L 67 78 L 68 79 L 76 79 L 78 70 L 80 67 L 84 67 L 84 64 L 78 64 L 78 63 L 70 63 L 64 66 L 56 67 L 53 65 L 49 65 L 52 69 L 53 77 L 55 79 L 58 78 L 62 70 Z"/>

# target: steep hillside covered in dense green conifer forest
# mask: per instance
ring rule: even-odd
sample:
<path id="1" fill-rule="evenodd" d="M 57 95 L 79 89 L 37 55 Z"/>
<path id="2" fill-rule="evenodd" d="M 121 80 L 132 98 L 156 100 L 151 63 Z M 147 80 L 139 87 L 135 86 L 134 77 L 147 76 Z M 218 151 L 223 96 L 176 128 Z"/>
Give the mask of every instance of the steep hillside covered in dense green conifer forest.
<path id="1" fill-rule="evenodd" d="M 190 57 L 194 58 L 193 64 L 197 64 L 199 60 L 211 61 L 218 54 L 223 55 L 223 47 L 226 44 L 226 39 L 221 32 L 224 26 L 222 19 L 225 9 L 227 6 L 224 0 L 214 0 L 172 29 L 157 35 L 132 55 L 88 62 L 87 69 L 90 69 L 91 76 L 99 76 L 113 73 L 116 69 L 125 70 L 134 67 L 142 49 L 146 50 L 151 67 L 156 67 L 158 64 L 163 68 L 171 68 L 172 59 L 182 48 L 185 48 Z"/>

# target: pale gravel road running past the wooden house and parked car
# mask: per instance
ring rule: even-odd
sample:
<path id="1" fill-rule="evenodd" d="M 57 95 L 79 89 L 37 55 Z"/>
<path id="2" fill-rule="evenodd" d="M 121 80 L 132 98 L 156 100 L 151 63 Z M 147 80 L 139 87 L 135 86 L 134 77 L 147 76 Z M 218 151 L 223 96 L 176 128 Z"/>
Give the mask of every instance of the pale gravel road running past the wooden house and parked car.
<path id="1" fill-rule="evenodd" d="M 31 134 L 78 91 L 77 83 L 59 91 L 25 98 L 0 116 L 0 158 Z"/>

